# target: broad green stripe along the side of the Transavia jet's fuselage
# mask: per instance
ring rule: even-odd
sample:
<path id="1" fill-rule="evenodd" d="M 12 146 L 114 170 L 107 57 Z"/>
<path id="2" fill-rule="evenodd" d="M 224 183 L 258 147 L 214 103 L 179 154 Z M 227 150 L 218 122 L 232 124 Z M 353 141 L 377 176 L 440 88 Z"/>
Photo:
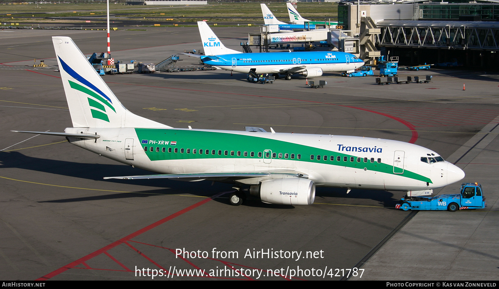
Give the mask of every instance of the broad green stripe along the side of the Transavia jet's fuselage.
<path id="1" fill-rule="evenodd" d="M 276 153 L 277 156 L 279 153 L 282 154 L 282 158 L 276 157 L 272 159 L 284 159 L 284 154 L 287 153 L 287 159 L 291 160 L 290 155 L 294 154 L 294 161 L 321 163 L 359 169 L 366 168 L 370 171 L 393 174 L 432 183 L 429 178 L 408 170 L 404 170 L 403 174 L 394 174 L 394 168 L 392 165 L 376 162 L 378 158 L 376 157 L 376 153 L 373 153 L 372 155 L 375 157 L 375 162 L 371 163 L 369 159 L 367 163 L 364 163 L 363 158 L 361 159 L 361 162 L 357 162 L 358 156 L 354 155 L 250 135 L 176 129 L 136 128 L 135 131 L 139 141 L 141 142 L 142 149 L 144 150 L 144 147 L 147 147 L 147 151 L 145 152 L 151 161 L 215 158 L 261 159 L 263 156 L 258 157 L 258 152 L 261 152 L 263 155 L 264 150 L 271 150 L 272 153 Z M 176 142 L 176 144 L 172 145 L 172 141 Z M 151 147 L 153 147 L 152 152 L 150 151 Z M 156 152 L 157 147 L 159 147 L 159 152 Z M 162 152 L 163 148 L 165 148 L 166 152 Z M 168 152 L 169 148 L 172 149 L 171 153 Z M 174 152 L 175 148 L 178 149 L 177 153 Z M 191 150 L 190 153 L 187 153 L 188 148 Z M 184 153 L 181 153 L 181 149 L 184 149 Z M 193 149 L 197 150 L 196 154 L 193 154 Z M 203 154 L 199 153 L 199 150 L 201 149 L 203 150 Z M 209 150 L 209 154 L 205 153 L 206 150 Z M 212 154 L 212 150 L 215 150 L 215 155 Z M 226 150 L 228 151 L 228 155 L 225 155 Z M 222 151 L 221 155 L 219 155 L 219 151 Z M 231 155 L 231 151 L 235 151 L 234 156 Z M 237 155 L 238 151 L 241 152 L 241 156 Z M 248 156 L 244 156 L 245 151 L 248 152 Z M 250 156 L 251 152 L 254 152 L 254 157 Z M 298 154 L 301 155 L 300 159 L 297 159 Z M 310 159 L 310 155 L 314 155 L 313 160 Z M 317 155 L 321 156 L 320 160 L 316 159 Z M 327 156 L 327 160 L 323 160 L 324 155 Z M 331 155 L 334 156 L 334 161 L 329 160 Z M 336 160 L 338 156 L 341 161 Z M 381 155 L 379 156 L 381 157 Z M 344 157 L 347 157 L 347 161 L 343 161 Z M 353 162 L 350 162 L 350 157 L 354 157 Z"/>

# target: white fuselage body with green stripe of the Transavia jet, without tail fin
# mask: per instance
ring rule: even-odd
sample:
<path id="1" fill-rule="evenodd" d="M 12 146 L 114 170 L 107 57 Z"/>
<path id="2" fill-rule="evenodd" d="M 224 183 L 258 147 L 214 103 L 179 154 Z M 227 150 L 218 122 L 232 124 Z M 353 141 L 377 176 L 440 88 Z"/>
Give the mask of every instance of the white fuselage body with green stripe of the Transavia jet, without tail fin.
<path id="1" fill-rule="evenodd" d="M 97 133 L 101 137 L 96 141 L 69 139 L 107 158 L 162 174 L 294 171 L 307 175 L 317 186 L 397 191 L 435 189 L 464 177 L 461 169 L 447 161 L 422 162 L 427 154 L 437 155 L 429 149 L 385 139 L 174 128 L 67 128 L 66 132 Z M 202 139 L 207 134 L 219 136 L 220 141 Z M 227 141 L 231 138 L 236 141 Z M 251 138 L 253 145 L 241 143 L 241 138 Z M 204 154 L 194 153 L 199 150 Z"/>

